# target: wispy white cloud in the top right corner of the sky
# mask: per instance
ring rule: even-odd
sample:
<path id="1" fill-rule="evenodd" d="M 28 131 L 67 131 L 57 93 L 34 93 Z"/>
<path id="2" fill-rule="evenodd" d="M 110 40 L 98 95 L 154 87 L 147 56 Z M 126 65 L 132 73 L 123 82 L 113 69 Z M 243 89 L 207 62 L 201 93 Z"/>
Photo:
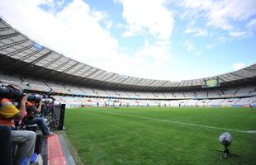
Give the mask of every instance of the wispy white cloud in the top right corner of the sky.
<path id="1" fill-rule="evenodd" d="M 225 31 L 234 30 L 233 21 L 244 21 L 256 15 L 256 2 L 254 0 L 183 0 L 183 7 L 204 12 L 206 26 L 214 26 Z"/>

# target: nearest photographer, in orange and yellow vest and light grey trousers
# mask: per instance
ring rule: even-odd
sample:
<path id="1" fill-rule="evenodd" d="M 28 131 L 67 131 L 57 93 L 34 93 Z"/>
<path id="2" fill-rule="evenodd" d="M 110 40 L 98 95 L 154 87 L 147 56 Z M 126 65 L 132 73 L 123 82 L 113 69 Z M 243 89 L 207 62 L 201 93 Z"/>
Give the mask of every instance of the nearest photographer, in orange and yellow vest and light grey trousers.
<path id="1" fill-rule="evenodd" d="M 12 88 L 12 90 L 21 90 L 14 85 L 9 85 L 7 87 Z M 26 100 L 27 94 L 24 94 L 21 98 L 20 106 L 17 109 L 10 99 L 0 95 L 0 125 L 6 125 L 13 128 L 14 120 L 22 120 L 26 115 Z M 18 146 L 14 164 L 20 164 L 22 158 L 30 158 L 31 154 L 34 153 L 36 133 L 26 130 L 12 130 L 12 144 L 17 144 Z"/>

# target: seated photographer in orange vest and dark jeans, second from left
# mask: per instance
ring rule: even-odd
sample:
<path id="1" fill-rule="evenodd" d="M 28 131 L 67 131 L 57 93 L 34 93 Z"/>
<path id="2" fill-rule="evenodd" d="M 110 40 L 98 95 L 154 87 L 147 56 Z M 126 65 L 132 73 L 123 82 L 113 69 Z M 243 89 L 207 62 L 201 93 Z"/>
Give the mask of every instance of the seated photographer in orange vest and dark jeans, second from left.
<path id="1" fill-rule="evenodd" d="M 37 124 L 40 127 L 40 130 L 45 136 L 51 136 L 55 133 L 50 132 L 48 126 L 45 123 L 45 119 L 40 117 L 39 113 L 41 111 L 41 106 L 43 104 L 43 100 L 40 100 L 39 106 L 36 108 L 31 101 L 26 101 L 26 119 L 25 124 L 26 125 L 35 125 Z"/>

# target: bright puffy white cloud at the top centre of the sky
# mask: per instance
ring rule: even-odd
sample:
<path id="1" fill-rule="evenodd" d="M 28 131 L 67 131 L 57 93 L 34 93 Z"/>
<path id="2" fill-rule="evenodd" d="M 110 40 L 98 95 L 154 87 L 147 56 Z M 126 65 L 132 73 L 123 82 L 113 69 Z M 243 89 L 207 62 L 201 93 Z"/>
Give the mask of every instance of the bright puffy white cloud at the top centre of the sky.
<path id="1" fill-rule="evenodd" d="M 164 0 L 119 0 L 123 6 L 122 16 L 128 24 L 125 36 L 152 35 L 168 40 L 173 32 L 173 12 L 164 7 Z"/>

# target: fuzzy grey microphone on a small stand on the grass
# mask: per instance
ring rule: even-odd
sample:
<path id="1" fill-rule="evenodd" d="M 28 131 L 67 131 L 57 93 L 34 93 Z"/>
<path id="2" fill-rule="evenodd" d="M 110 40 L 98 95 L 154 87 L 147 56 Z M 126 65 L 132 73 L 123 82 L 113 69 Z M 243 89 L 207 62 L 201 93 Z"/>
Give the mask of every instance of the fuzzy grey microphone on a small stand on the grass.
<path id="1" fill-rule="evenodd" d="M 230 144 L 232 142 L 232 135 L 229 132 L 224 132 L 223 134 L 220 134 L 219 142 L 220 144 L 224 145 L 224 151 L 218 150 L 220 152 L 223 152 L 223 155 L 220 155 L 220 158 L 228 158 L 229 155 L 238 156 L 235 153 L 230 153 Z"/>

